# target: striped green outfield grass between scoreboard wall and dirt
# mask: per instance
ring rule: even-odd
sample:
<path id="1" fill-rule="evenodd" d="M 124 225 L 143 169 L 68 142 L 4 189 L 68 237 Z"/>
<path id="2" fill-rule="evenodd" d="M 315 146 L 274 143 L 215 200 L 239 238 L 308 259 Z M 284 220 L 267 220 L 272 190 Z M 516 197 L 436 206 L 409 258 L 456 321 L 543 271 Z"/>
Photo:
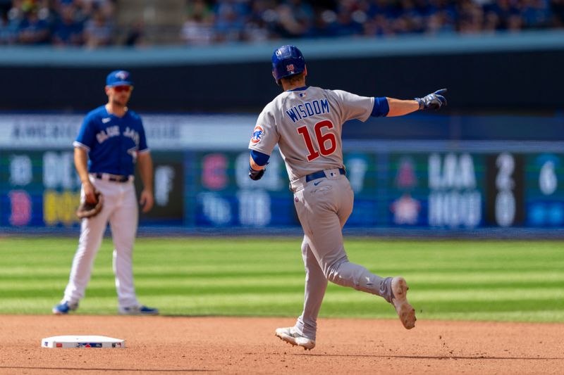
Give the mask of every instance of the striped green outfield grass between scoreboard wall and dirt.
<path id="1" fill-rule="evenodd" d="M 68 279 L 77 239 L 0 238 L 0 314 L 50 314 Z M 142 303 L 170 315 L 300 314 L 301 239 L 137 239 Z M 349 259 L 381 276 L 401 274 L 419 319 L 564 322 L 562 241 L 347 239 Z M 115 314 L 111 241 L 104 241 L 76 314 Z M 329 285 L 321 317 L 395 317 L 381 298 Z"/>

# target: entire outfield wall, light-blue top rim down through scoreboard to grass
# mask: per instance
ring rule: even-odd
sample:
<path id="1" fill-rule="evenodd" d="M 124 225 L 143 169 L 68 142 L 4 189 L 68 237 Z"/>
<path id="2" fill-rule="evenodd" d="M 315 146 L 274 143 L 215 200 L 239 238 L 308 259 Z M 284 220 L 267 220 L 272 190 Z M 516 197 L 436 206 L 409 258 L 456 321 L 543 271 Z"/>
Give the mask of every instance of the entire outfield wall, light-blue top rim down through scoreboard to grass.
<path id="1" fill-rule="evenodd" d="M 77 233 L 71 143 L 116 68 L 133 72 L 156 161 L 142 233 L 299 234 L 281 160 L 262 182 L 246 177 L 250 129 L 280 92 L 269 57 L 282 43 L 1 48 L 0 234 Z M 296 43 L 309 84 L 400 98 L 449 89 L 437 115 L 345 125 L 346 230 L 564 236 L 564 32 Z"/>

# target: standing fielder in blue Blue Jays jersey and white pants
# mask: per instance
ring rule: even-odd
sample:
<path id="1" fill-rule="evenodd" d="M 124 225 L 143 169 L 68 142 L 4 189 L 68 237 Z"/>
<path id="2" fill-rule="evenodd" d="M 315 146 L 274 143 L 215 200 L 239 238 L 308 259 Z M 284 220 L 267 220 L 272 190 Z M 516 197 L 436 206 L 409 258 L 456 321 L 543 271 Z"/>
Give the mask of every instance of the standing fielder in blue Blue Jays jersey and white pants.
<path id="1" fill-rule="evenodd" d="M 135 162 L 143 180 L 140 203 L 143 212 L 153 205 L 153 163 L 141 117 L 127 107 L 133 91 L 129 72 L 116 70 L 106 78 L 108 103 L 85 117 L 74 142 L 75 167 L 82 181 L 81 200 L 104 198 L 102 210 L 82 219 L 80 240 L 63 300 L 54 314 L 76 310 L 85 296 L 92 264 L 108 222 L 114 240 L 114 273 L 120 314 L 155 315 L 157 309 L 137 302 L 133 286 L 132 253 L 137 232 L 137 198 L 133 184 Z M 88 160 L 90 158 L 90 160 Z"/>

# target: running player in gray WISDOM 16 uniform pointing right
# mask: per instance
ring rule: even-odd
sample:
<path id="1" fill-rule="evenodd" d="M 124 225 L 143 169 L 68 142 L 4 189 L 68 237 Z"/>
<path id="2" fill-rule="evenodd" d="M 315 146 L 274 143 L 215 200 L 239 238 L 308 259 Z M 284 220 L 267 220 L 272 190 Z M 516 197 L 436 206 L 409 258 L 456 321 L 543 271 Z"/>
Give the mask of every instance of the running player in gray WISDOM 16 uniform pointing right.
<path id="1" fill-rule="evenodd" d="M 351 119 L 400 116 L 415 110 L 446 106 L 446 89 L 423 98 L 398 100 L 357 96 L 305 84 L 305 59 L 295 46 L 281 46 L 272 55 L 272 75 L 284 92 L 264 107 L 250 140 L 249 177 L 260 179 L 278 144 L 304 230 L 304 310 L 295 326 L 276 329 L 276 336 L 311 350 L 317 315 L 327 281 L 384 298 L 395 307 L 406 329 L 415 326 L 415 310 L 407 302 L 403 277 L 379 277 L 349 262 L 341 229 L 353 210 L 353 189 L 345 177 L 341 129 Z"/>

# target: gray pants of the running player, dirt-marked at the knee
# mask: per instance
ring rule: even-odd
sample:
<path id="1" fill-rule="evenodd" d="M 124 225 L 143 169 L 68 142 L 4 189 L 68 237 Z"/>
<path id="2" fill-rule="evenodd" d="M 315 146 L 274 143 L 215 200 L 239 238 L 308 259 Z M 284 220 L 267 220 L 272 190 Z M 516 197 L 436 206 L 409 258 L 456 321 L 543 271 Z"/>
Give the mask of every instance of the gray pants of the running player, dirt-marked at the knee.
<path id="1" fill-rule="evenodd" d="M 317 183 L 315 185 L 314 183 Z M 302 258 L 305 265 L 304 310 L 295 324 L 303 336 L 315 340 L 317 315 L 327 281 L 388 300 L 384 279 L 361 265 L 349 262 L 343 246 L 342 229 L 353 212 L 354 193 L 348 179 L 316 179 L 294 191 L 294 203 L 302 228 Z"/>

